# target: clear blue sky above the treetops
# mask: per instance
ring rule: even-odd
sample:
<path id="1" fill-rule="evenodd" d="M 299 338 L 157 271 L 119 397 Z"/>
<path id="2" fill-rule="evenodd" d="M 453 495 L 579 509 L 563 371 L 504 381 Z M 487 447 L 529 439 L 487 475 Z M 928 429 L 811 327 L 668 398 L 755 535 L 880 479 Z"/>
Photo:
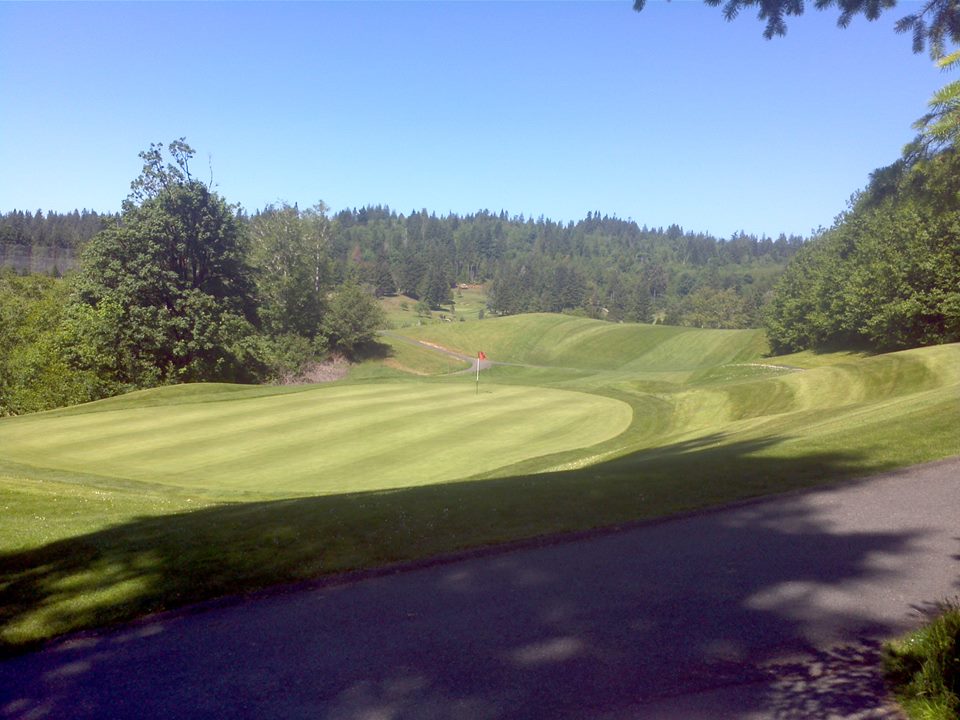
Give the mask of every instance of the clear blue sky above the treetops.
<path id="1" fill-rule="evenodd" d="M 812 6 L 812 2 L 807 3 Z M 248 211 L 829 226 L 951 79 L 886 18 L 700 2 L 0 3 L 0 211 L 119 209 L 186 136 Z"/>

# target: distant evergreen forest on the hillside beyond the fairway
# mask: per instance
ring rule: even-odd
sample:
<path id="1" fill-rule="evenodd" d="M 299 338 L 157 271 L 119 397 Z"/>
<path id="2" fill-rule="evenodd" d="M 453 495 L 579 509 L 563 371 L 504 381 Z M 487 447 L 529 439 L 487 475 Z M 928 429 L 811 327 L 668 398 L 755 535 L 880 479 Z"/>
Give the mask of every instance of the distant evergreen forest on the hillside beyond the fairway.
<path id="1" fill-rule="evenodd" d="M 765 294 L 802 242 L 743 233 L 723 241 L 678 225 L 641 228 L 592 212 L 562 225 L 487 211 L 405 217 L 370 207 L 337 214 L 330 247 L 337 266 L 359 267 L 379 293 L 426 298 L 433 308 L 450 302 L 453 282 L 488 281 L 490 309 L 503 315 L 576 311 L 648 322 L 669 306 L 674 322 L 699 325 L 695 311 L 676 298 L 706 288 L 730 290 L 740 309 L 709 324 L 756 327 Z"/>

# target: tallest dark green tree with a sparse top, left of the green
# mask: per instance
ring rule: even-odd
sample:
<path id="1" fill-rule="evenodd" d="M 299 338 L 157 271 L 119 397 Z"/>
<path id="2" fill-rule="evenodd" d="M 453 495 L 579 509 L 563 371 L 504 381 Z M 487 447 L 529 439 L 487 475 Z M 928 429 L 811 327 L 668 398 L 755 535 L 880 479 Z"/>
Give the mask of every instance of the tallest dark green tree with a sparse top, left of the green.
<path id="1" fill-rule="evenodd" d="M 232 207 L 191 177 L 181 138 L 140 153 L 116 226 L 85 248 L 72 317 L 96 328 L 95 370 L 125 386 L 256 375 L 254 284 Z M 77 358 L 82 361 L 83 358 Z"/>

